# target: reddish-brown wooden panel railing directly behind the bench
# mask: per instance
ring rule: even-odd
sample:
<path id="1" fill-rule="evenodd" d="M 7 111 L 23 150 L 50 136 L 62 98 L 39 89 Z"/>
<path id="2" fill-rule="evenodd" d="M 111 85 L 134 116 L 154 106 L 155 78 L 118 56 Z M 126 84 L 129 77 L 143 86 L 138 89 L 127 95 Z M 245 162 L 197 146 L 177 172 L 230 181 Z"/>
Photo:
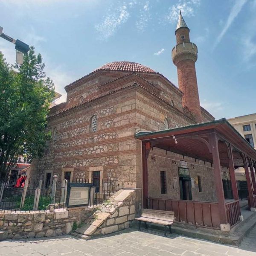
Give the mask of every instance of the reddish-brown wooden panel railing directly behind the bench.
<path id="1" fill-rule="evenodd" d="M 175 221 L 220 228 L 218 203 L 148 198 L 148 208 L 175 212 Z"/>

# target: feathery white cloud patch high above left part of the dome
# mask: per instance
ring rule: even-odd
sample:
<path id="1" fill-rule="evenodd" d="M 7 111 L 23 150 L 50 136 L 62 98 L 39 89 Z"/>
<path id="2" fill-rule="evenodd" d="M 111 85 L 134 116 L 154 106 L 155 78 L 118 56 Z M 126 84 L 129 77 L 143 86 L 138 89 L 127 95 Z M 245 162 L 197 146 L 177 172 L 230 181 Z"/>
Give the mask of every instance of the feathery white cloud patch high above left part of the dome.
<path id="1" fill-rule="evenodd" d="M 108 10 L 108 14 L 104 17 L 103 22 L 95 26 L 101 40 L 107 40 L 130 16 L 125 5 L 119 6 L 113 11 L 112 8 L 113 6 Z"/>

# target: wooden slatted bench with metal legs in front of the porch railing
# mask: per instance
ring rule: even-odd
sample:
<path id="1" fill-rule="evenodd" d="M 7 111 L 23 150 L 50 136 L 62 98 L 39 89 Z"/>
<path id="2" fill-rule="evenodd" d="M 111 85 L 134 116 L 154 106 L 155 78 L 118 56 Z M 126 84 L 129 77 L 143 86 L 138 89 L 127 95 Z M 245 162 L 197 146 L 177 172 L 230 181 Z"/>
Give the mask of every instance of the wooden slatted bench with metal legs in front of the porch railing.
<path id="1" fill-rule="evenodd" d="M 144 221 L 146 229 L 148 229 L 147 222 L 164 225 L 166 236 L 167 226 L 169 227 L 170 233 L 172 233 L 171 225 L 174 221 L 174 212 L 142 209 L 141 217 L 135 218 L 135 220 L 139 221 L 139 231 L 141 221 Z"/>

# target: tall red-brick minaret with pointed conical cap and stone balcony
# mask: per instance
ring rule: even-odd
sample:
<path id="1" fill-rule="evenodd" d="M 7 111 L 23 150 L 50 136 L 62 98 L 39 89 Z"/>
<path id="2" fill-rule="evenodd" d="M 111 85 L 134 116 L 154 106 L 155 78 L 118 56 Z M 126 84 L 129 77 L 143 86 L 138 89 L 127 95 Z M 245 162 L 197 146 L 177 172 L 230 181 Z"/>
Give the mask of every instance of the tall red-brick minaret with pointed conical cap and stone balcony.
<path id="1" fill-rule="evenodd" d="M 183 92 L 182 106 L 194 113 L 197 122 L 203 122 L 195 72 L 198 50 L 197 46 L 190 42 L 189 28 L 181 11 L 175 35 L 176 46 L 172 49 L 172 61 L 177 66 L 178 84 Z"/>

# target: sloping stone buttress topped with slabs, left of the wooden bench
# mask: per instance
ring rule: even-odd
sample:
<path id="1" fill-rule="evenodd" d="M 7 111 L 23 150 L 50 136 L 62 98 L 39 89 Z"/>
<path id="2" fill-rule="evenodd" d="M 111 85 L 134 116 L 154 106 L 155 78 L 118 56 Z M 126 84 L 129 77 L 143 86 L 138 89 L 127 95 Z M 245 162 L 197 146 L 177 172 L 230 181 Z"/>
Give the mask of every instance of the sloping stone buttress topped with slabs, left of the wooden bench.
<path id="1" fill-rule="evenodd" d="M 92 236 L 105 235 L 130 227 L 135 217 L 135 189 L 121 189 L 109 201 L 85 220 L 82 227 L 71 233 L 88 240 Z"/>

